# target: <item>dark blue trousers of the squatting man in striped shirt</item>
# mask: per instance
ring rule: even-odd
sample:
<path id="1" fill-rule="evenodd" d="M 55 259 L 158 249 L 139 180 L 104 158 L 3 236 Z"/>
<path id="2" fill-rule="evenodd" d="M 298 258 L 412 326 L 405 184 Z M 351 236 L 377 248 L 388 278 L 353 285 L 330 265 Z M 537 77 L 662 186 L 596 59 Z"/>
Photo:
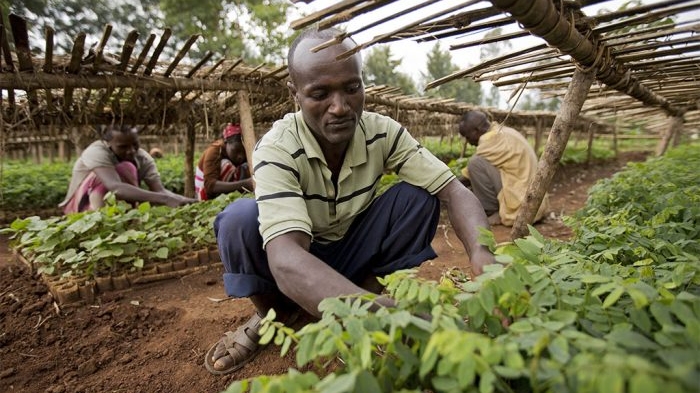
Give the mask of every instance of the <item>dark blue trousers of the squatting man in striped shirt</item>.
<path id="1" fill-rule="evenodd" d="M 311 243 L 310 252 L 356 284 L 419 266 L 437 255 L 430 243 L 440 219 L 440 201 L 425 190 L 399 183 L 359 214 L 345 236 Z M 240 198 L 214 220 L 228 296 L 279 293 L 258 230 L 254 199 Z"/>

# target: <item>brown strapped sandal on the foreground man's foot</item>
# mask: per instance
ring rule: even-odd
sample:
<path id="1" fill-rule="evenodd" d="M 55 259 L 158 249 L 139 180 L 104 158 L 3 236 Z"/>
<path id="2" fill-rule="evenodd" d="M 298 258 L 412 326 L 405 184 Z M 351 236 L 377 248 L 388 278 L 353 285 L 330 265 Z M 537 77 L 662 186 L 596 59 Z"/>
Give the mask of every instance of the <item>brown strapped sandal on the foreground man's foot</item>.
<path id="1" fill-rule="evenodd" d="M 258 343 L 260 341 L 258 330 L 260 329 L 261 320 L 262 317 L 256 312 L 250 317 L 248 322 L 236 329 L 235 332 L 228 331 L 224 333 L 224 337 L 214 343 L 207 351 L 204 358 L 204 366 L 206 369 L 214 375 L 224 375 L 239 370 L 253 360 L 263 348 L 263 345 Z M 231 367 L 224 370 L 217 370 L 214 368 L 214 363 L 216 361 L 213 360 L 213 356 L 219 344 L 223 344 L 228 352 L 228 354 L 224 356 L 229 356 L 234 361 Z"/>

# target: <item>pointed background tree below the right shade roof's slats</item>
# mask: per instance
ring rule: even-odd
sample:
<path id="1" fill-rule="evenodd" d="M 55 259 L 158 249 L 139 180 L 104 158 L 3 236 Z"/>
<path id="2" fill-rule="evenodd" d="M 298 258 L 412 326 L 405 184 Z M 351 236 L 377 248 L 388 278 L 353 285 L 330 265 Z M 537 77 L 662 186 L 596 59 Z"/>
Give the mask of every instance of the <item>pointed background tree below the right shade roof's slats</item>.
<path id="1" fill-rule="evenodd" d="M 428 73 L 423 74 L 423 80 L 428 83 L 444 76 L 450 75 L 459 70 L 459 67 L 452 62 L 452 55 L 449 51 L 441 50 L 440 43 L 436 43 L 428 53 L 427 61 Z M 459 79 L 445 83 L 425 92 L 428 97 L 437 96 L 442 98 L 453 98 L 455 101 L 468 102 L 472 104 L 481 103 L 481 86 L 471 79 Z"/>

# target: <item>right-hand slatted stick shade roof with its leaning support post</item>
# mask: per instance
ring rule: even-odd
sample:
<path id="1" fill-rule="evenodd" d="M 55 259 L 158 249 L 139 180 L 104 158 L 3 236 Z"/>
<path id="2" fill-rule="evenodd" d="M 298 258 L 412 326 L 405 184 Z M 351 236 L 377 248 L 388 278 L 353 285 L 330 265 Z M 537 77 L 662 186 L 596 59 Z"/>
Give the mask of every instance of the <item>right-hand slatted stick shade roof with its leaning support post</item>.
<path id="1" fill-rule="evenodd" d="M 307 1 L 308 2 L 308 1 Z M 394 10 L 393 16 L 411 21 L 399 28 L 388 26 L 392 17 L 375 18 L 365 27 L 343 33 L 316 50 L 366 29 L 381 30 L 343 56 L 362 48 L 395 40 L 427 42 L 447 37 L 483 33 L 495 27 L 513 27 L 515 32 L 455 44 L 450 49 L 532 35 L 540 43 L 465 68 L 428 84 L 435 87 L 459 78 L 490 80 L 513 89 L 536 87 L 564 101 L 552 124 L 547 147 L 540 159 L 538 176 L 525 196 L 513 226 L 512 237 L 526 233 L 537 207 L 554 175 L 576 119 L 588 117 L 614 124 L 643 121 L 650 130 L 663 133 L 657 148 L 663 154 L 682 125 L 700 126 L 700 2 L 659 1 L 603 15 L 586 15 L 584 8 L 612 3 L 603 0 L 491 0 L 465 1 L 458 5 L 424 1 L 408 9 L 398 1 L 346 0 L 295 21 L 292 26 L 311 24 L 330 27 L 359 15 L 371 16 L 378 8 Z M 612 3 L 614 4 L 614 3 Z M 391 8 L 389 8 L 391 7 Z M 431 8 L 429 8 L 431 7 Z M 680 23 L 661 23 L 668 17 L 683 17 Z M 651 27 L 640 28 L 642 24 Z M 376 31 L 373 30 L 373 31 Z M 529 86 L 528 86 L 529 85 Z M 590 96 L 590 100 L 589 100 Z"/>

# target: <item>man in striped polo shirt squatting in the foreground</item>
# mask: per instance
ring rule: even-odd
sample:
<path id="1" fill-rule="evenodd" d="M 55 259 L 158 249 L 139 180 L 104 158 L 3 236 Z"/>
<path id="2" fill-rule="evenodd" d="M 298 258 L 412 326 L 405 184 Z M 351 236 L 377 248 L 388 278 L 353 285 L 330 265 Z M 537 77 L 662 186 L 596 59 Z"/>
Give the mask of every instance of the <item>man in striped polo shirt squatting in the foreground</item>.
<path id="1" fill-rule="evenodd" d="M 258 141 L 255 199 L 235 200 L 214 221 L 226 293 L 249 298 L 256 312 L 211 346 L 205 367 L 213 374 L 254 358 L 270 308 L 287 324 L 299 307 L 318 317 L 323 299 L 379 294 L 378 276 L 435 258 L 441 202 L 472 272 L 494 262 L 477 241 L 478 229 L 489 228 L 479 200 L 401 124 L 363 112 L 360 54 L 336 59 L 354 42 L 311 51 L 339 34 L 311 29 L 292 43 L 287 86 L 301 110 Z M 404 181 L 378 195 L 385 170 Z M 392 305 L 378 296 L 372 307 Z"/>

